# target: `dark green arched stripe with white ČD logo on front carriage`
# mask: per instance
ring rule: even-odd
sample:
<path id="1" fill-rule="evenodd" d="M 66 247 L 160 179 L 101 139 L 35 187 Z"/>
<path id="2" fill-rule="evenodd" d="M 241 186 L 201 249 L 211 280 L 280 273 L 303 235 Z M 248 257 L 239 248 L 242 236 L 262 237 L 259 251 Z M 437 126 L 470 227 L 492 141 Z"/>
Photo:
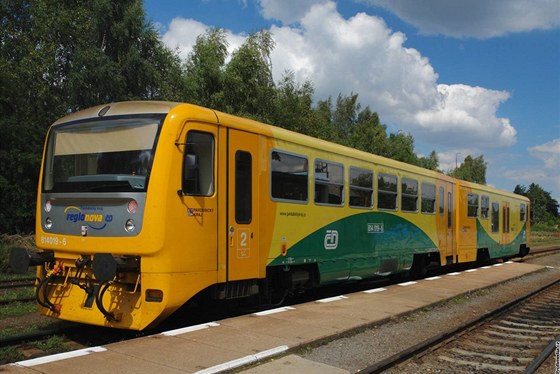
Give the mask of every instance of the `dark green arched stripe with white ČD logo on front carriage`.
<path id="1" fill-rule="evenodd" d="M 313 232 L 269 266 L 317 263 L 321 283 L 398 273 L 410 268 L 414 253 L 437 252 L 416 225 L 386 212 L 345 217 Z"/>

